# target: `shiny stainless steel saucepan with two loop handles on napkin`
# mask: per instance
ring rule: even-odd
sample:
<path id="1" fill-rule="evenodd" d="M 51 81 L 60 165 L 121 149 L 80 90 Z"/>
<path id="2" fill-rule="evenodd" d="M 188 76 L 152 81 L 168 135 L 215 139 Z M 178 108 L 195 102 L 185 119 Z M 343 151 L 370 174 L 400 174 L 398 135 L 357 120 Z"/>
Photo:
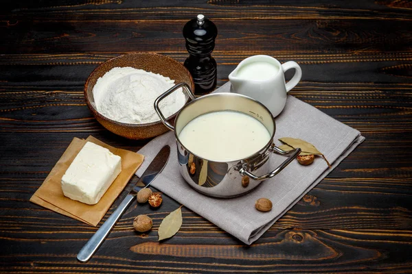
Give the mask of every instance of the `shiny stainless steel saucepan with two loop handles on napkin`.
<path id="1" fill-rule="evenodd" d="M 174 126 L 166 121 L 161 113 L 159 102 L 178 88 L 183 88 L 192 99 L 180 110 L 174 121 Z M 215 93 L 196 99 L 187 84 L 181 83 L 170 88 L 155 101 L 155 110 L 163 124 L 174 131 L 177 144 L 177 158 L 180 173 L 186 182 L 205 195 L 211 197 L 237 197 L 258 186 L 264 179 L 271 178 L 299 155 L 300 149 L 283 151 L 273 143 L 275 136 L 275 120 L 271 112 L 260 102 L 244 95 L 235 93 Z M 260 151 L 256 151 L 244 159 L 230 162 L 217 162 L 196 155 L 179 140 L 183 127 L 197 116 L 222 110 L 232 110 L 253 116 L 260 121 L 271 134 L 270 141 Z M 276 169 L 270 171 L 271 152 L 290 156 Z"/>

